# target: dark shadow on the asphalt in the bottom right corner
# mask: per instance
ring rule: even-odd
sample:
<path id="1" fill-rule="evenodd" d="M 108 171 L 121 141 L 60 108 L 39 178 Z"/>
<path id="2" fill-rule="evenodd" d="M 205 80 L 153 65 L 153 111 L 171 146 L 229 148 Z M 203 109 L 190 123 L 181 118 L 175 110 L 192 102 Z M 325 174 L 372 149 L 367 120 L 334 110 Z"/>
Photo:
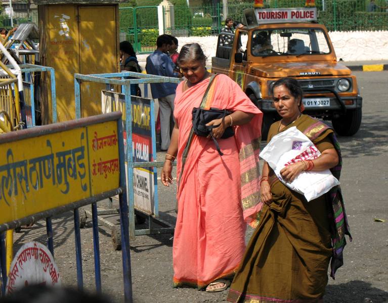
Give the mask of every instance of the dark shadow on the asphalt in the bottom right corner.
<path id="1" fill-rule="evenodd" d="M 338 285 L 327 285 L 325 302 L 330 303 L 385 303 L 388 292 L 373 287 L 364 281 L 350 281 Z"/>

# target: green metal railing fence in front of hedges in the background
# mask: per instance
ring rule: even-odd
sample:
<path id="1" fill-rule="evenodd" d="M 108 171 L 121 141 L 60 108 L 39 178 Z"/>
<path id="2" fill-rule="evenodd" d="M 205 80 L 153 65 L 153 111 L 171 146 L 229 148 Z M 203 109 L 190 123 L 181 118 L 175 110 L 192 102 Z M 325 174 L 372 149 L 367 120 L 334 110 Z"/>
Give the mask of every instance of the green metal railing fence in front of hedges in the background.
<path id="1" fill-rule="evenodd" d="M 229 4 L 228 14 L 223 16 L 222 5 L 217 6 L 175 6 L 174 27 L 164 31 L 175 36 L 208 36 L 220 32 L 226 17 L 240 21 L 244 9 L 252 7 L 247 3 Z M 304 7 L 305 0 L 266 0 L 266 8 Z M 388 0 L 316 0 L 318 22 L 329 31 L 377 31 L 388 30 Z M 152 52 L 159 34 L 157 7 L 120 7 L 120 39 L 134 43 L 138 53 Z M 122 38 L 121 38 L 122 37 Z"/>

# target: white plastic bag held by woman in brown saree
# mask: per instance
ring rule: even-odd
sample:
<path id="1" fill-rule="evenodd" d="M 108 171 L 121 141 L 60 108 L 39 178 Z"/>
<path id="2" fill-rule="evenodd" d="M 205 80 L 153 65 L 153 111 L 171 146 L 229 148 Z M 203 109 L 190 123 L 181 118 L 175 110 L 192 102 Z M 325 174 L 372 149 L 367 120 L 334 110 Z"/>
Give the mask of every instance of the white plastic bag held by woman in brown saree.
<path id="1" fill-rule="evenodd" d="M 303 160 L 314 160 L 321 155 L 313 142 L 295 126 L 274 136 L 260 153 L 260 157 L 267 161 L 276 176 L 287 187 L 304 194 L 311 201 L 332 187 L 339 185 L 339 181 L 330 170 L 320 172 L 301 172 L 291 183 L 287 183 L 280 175 L 286 166 Z"/>

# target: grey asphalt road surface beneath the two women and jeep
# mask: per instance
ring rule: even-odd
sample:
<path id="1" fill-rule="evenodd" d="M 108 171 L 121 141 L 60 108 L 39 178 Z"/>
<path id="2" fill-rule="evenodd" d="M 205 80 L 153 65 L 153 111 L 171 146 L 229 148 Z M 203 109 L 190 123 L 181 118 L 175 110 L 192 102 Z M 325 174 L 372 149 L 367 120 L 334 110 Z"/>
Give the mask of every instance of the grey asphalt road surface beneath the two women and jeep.
<path id="1" fill-rule="evenodd" d="M 353 137 L 339 137 L 343 156 L 341 186 L 353 236 L 344 250 L 344 266 L 330 279 L 325 302 L 388 302 L 388 72 L 356 72 L 364 98 L 361 129 Z M 164 153 L 158 153 L 158 160 Z M 162 219 L 175 221 L 175 186 L 159 182 Z M 100 205 L 104 207 L 104 204 Z M 382 219 L 385 222 L 376 222 Z M 117 216 L 111 216 L 112 222 Z M 41 224 L 40 224 L 41 223 Z M 137 228 L 144 228 L 139 225 Z M 64 285 L 76 285 L 74 234 L 71 213 L 53 220 L 55 258 Z M 248 227 L 246 239 L 252 230 Z M 171 234 L 137 236 L 131 242 L 134 302 L 224 302 L 227 292 L 206 293 L 173 288 Z M 43 222 L 15 236 L 17 248 L 37 239 L 45 243 Z M 84 288 L 95 289 L 91 224 L 81 230 Z M 123 301 L 121 251 L 112 249 L 110 231 L 100 228 L 103 292 Z M 271 277 L 268 277 L 271 279 Z M 276 283 L 276 281 L 274 281 Z"/>

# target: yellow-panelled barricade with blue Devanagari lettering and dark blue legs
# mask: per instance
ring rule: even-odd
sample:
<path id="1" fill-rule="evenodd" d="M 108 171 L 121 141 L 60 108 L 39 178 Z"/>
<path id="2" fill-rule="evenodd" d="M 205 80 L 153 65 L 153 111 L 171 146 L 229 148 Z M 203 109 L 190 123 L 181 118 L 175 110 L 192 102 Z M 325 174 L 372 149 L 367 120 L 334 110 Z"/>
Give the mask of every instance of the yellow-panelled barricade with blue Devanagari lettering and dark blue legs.
<path id="1" fill-rule="evenodd" d="M 97 144 L 96 135 L 103 138 L 103 144 Z M 101 292 L 96 203 L 119 195 L 124 298 L 125 302 L 132 302 L 123 151 L 121 112 L 8 132 L 0 136 L 0 177 L 9 180 L 2 183 L 0 190 L 3 295 L 7 286 L 5 232 L 46 219 L 47 246 L 54 256 L 51 217 L 67 211 L 74 212 L 77 284 L 79 289 L 83 288 L 78 209 L 90 204 L 93 209 L 95 283 L 96 290 Z M 49 196 L 55 199 L 47 203 Z"/>

